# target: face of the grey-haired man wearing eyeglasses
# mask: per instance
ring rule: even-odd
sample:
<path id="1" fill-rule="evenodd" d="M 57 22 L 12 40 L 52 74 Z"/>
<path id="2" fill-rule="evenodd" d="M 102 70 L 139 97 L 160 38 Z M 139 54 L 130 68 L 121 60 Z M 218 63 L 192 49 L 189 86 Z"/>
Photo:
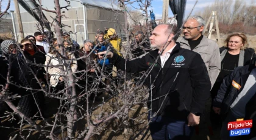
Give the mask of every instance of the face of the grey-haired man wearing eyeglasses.
<path id="1" fill-rule="evenodd" d="M 186 29 L 183 29 L 184 37 L 187 40 L 197 40 L 199 37 L 201 37 L 201 32 L 204 30 L 204 26 L 197 29 L 198 26 L 199 23 L 197 23 L 195 19 L 188 19 L 188 21 L 183 25 L 183 28 L 186 27 Z"/>

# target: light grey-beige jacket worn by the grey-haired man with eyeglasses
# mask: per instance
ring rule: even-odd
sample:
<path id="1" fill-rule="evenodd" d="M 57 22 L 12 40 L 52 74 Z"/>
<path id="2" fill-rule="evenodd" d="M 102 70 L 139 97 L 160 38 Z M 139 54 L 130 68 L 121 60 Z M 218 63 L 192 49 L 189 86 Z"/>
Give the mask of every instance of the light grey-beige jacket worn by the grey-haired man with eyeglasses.
<path id="1" fill-rule="evenodd" d="M 191 50 L 188 40 L 184 37 L 178 38 L 177 42 L 180 42 L 180 47 Z M 219 55 L 218 44 L 204 36 L 201 43 L 197 45 L 193 51 L 200 54 L 204 60 L 213 87 L 221 69 L 221 57 Z"/>

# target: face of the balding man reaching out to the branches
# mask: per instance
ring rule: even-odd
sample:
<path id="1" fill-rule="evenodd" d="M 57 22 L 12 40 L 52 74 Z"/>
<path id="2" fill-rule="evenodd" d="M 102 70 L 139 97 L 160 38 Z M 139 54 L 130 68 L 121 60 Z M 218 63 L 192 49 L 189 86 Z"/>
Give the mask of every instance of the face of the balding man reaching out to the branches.
<path id="1" fill-rule="evenodd" d="M 168 35 L 165 33 L 166 30 L 166 25 L 158 25 L 155 27 L 151 37 L 149 37 L 152 49 L 162 49 L 162 47 L 165 45 L 168 39 Z"/>

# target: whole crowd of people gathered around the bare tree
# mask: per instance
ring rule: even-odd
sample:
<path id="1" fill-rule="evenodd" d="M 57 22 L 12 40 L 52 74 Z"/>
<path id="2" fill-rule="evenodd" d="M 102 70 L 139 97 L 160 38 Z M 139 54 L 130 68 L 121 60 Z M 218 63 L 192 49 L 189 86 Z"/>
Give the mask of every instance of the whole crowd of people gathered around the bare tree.
<path id="1" fill-rule="evenodd" d="M 65 60 L 72 72 L 86 71 L 86 74 L 76 73 L 79 93 L 85 91 L 85 86 L 95 87 L 95 77 L 102 74 L 99 69 L 104 69 L 105 75 L 99 93 L 104 92 L 101 91 L 104 86 L 117 83 L 113 79 L 118 69 L 138 77 L 141 76 L 138 72 L 146 72 L 148 119 L 153 139 L 190 139 L 209 97 L 212 99 L 210 121 L 213 127 L 221 128 L 221 139 L 255 138 L 253 127 L 250 135 L 238 137 L 230 137 L 227 130 L 227 123 L 236 119 L 256 120 L 254 49 L 249 48 L 247 37 L 241 32 L 230 33 L 225 46 L 218 46 L 202 35 L 204 28 L 204 19 L 195 15 L 183 24 L 183 37 L 177 37 L 176 24 L 158 25 L 149 38 L 138 31 L 131 42 L 130 53 L 135 57 L 131 60 L 123 58 L 121 38 L 115 29 L 98 30 L 95 40 L 84 40 L 81 47 L 68 33 L 63 33 Z M 35 32 L 20 44 L 13 40 L 1 43 L 0 85 L 8 82 L 9 92 L 21 96 L 16 105 L 29 117 L 37 111 L 43 114 L 43 91 L 35 89 L 48 88 L 47 83 L 53 93 L 61 93 L 65 88 L 66 67 L 60 57 L 61 46 L 56 38 L 49 43 L 44 39 L 41 32 Z M 3 91 L 5 86 L 1 88 Z M 108 88 L 109 94 L 112 91 Z M 34 102 L 38 106 L 32 105 Z"/>

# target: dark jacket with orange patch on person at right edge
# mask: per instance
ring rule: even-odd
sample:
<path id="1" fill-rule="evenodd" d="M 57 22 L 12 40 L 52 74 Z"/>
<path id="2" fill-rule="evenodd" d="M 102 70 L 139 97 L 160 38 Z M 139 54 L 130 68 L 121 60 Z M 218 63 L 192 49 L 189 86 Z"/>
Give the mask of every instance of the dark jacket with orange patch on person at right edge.
<path id="1" fill-rule="evenodd" d="M 225 77 L 225 79 L 223 80 L 221 88 L 219 88 L 218 94 L 213 100 L 213 107 L 221 108 L 222 119 L 226 118 L 226 115 L 230 110 L 230 105 L 232 105 L 238 94 L 240 94 L 243 90 L 252 69 L 255 68 L 255 60 L 256 58 L 251 61 L 250 65 L 236 68 L 230 75 Z M 238 83 L 241 88 L 236 89 L 234 86 L 232 86 L 233 81 Z M 255 116 L 255 113 L 256 94 L 246 104 L 246 116 L 244 119 L 252 119 Z"/>

